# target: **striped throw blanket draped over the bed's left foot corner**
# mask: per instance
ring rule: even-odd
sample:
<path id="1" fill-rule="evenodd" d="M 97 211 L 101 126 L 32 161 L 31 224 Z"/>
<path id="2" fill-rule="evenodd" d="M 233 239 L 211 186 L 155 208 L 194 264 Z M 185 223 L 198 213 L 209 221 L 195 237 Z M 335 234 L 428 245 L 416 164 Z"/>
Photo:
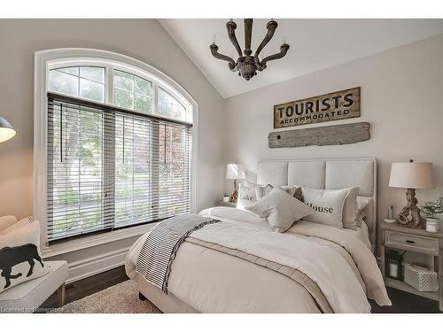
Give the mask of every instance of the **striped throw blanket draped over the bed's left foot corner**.
<path id="1" fill-rule="evenodd" d="M 191 213 L 161 221 L 146 238 L 136 271 L 167 294 L 167 279 L 180 245 L 193 231 L 214 222 L 220 220 Z"/>

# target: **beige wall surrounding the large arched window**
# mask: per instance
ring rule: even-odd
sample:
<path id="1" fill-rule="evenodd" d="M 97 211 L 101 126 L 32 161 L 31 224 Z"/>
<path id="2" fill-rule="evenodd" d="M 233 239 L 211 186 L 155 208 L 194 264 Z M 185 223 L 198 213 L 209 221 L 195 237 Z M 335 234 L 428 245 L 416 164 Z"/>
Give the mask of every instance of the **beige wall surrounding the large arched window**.
<path id="1" fill-rule="evenodd" d="M 0 215 L 32 214 L 34 53 L 65 47 L 111 50 L 166 73 L 199 106 L 198 209 L 222 190 L 223 100 L 155 19 L 0 20 L 0 115 L 18 134 L 0 143 Z"/>

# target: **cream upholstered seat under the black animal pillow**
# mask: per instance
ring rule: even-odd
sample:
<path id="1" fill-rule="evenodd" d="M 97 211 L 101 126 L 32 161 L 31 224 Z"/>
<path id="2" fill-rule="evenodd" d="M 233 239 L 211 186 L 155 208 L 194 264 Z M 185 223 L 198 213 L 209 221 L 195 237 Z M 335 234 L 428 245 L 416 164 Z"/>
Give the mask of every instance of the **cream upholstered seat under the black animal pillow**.
<path id="1" fill-rule="evenodd" d="M 65 305 L 66 261 L 44 261 L 44 264 L 50 266 L 47 274 L 0 293 L 0 313 L 34 313 L 56 290 L 58 305 Z"/>

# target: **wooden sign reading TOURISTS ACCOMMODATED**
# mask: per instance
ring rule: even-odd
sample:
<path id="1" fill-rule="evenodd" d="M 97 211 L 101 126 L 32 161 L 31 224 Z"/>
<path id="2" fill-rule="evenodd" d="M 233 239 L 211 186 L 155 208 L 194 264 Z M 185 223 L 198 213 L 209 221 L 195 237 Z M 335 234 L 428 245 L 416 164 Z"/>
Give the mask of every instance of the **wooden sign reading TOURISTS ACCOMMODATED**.
<path id="1" fill-rule="evenodd" d="M 360 87 L 274 106 L 274 127 L 294 127 L 360 116 Z"/>

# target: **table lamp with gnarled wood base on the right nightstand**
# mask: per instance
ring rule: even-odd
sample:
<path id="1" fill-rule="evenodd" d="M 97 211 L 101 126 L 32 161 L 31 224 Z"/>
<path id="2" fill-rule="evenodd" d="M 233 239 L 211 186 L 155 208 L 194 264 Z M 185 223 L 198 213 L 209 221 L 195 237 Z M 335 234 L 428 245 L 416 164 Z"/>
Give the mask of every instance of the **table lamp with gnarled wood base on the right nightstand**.
<path id="1" fill-rule="evenodd" d="M 397 223 L 408 228 L 424 228 L 425 221 L 417 206 L 416 189 L 433 188 L 432 163 L 418 163 L 413 159 L 408 163 L 392 163 L 389 187 L 406 188 L 408 204 L 395 218 Z"/>

